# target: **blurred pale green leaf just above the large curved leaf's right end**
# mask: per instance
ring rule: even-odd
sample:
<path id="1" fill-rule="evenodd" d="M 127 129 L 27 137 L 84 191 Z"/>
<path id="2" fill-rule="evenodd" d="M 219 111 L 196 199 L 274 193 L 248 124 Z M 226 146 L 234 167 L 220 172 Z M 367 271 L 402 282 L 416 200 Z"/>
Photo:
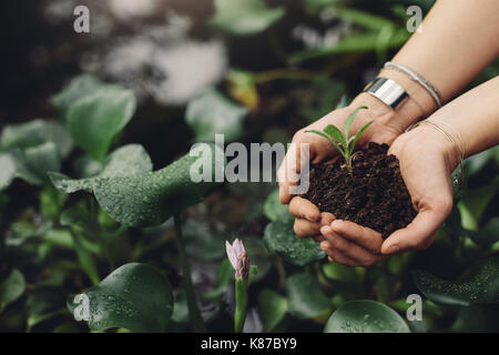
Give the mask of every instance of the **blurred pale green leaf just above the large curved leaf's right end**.
<path id="1" fill-rule="evenodd" d="M 189 102 L 185 122 L 194 131 L 198 142 L 213 142 L 215 134 L 224 134 L 227 142 L 241 138 L 247 113 L 246 108 L 211 89 Z"/>

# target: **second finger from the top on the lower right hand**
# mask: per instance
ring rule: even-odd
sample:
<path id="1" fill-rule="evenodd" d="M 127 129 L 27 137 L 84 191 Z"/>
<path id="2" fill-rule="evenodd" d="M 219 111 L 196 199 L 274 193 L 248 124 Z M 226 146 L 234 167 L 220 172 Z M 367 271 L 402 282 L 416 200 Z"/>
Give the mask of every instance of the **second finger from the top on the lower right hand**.
<path id="1" fill-rule="evenodd" d="M 333 248 L 342 252 L 343 255 L 356 261 L 361 266 L 373 266 L 379 261 L 378 255 L 336 234 L 330 226 L 323 226 L 320 233 Z"/>

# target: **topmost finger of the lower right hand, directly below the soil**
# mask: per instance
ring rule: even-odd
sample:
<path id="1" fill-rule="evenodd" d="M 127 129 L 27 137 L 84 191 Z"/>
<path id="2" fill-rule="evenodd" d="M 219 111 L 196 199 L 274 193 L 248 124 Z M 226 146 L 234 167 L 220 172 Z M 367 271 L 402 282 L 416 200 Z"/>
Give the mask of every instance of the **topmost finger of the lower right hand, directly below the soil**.
<path id="1" fill-rule="evenodd" d="M 384 242 L 381 234 L 357 223 L 335 220 L 330 227 L 343 237 L 367 248 L 371 253 L 379 254 Z"/>

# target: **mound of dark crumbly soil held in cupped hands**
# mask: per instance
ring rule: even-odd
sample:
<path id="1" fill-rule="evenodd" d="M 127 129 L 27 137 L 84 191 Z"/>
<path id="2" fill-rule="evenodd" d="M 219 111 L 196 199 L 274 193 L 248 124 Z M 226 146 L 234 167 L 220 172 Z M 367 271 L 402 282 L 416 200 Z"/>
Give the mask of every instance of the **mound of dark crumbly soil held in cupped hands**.
<path id="1" fill-rule="evenodd" d="M 310 185 L 303 197 L 320 212 L 338 220 L 370 227 L 387 237 L 416 216 L 398 160 L 387 154 L 387 144 L 369 143 L 353 160 L 353 174 L 345 161 L 310 168 Z"/>

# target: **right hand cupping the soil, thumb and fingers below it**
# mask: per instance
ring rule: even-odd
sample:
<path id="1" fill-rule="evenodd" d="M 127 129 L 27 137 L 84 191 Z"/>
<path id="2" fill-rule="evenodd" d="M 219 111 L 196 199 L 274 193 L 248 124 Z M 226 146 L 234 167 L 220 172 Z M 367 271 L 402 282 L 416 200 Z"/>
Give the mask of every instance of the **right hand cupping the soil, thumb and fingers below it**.
<path id="1" fill-rule="evenodd" d="M 330 261 L 350 266 L 370 266 L 387 255 L 427 248 L 452 209 L 450 173 L 456 151 L 435 128 L 421 124 L 397 138 L 389 151 L 400 164 L 417 216 L 385 241 L 370 229 L 352 222 L 334 221 L 323 226 L 320 247 Z"/>

